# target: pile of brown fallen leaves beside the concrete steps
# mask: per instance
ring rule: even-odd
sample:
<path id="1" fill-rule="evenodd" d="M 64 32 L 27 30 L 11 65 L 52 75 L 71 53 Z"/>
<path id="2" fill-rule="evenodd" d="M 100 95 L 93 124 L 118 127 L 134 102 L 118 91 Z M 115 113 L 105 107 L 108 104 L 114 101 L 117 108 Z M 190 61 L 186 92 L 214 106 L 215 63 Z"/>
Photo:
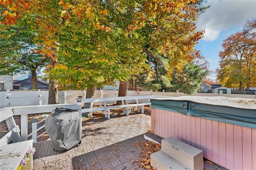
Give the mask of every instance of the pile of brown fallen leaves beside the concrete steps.
<path id="1" fill-rule="evenodd" d="M 141 157 L 136 159 L 135 162 L 138 162 L 141 168 L 156 170 L 156 168 L 150 166 L 150 155 L 159 150 L 161 150 L 161 144 L 147 141 L 146 143 L 143 143 L 142 150 L 140 152 Z"/>

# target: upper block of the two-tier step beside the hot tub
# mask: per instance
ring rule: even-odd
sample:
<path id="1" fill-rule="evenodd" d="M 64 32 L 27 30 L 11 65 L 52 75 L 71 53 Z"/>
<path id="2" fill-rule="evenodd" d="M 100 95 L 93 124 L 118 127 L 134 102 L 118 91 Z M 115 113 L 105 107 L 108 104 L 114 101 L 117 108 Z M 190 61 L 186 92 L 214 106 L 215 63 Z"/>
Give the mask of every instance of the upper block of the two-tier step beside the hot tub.
<path id="1" fill-rule="evenodd" d="M 191 170 L 204 169 L 203 151 L 173 137 L 162 140 L 161 150 Z"/>

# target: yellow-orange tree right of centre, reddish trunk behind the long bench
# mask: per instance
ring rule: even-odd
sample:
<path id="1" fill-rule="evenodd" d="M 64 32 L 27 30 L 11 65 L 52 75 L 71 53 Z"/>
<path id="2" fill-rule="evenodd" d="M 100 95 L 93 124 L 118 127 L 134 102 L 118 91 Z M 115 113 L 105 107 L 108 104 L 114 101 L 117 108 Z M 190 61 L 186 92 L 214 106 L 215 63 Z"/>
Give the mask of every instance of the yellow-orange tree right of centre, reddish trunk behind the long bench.
<path id="1" fill-rule="evenodd" d="M 142 51 L 150 58 L 155 60 L 155 64 L 161 64 L 161 56 L 168 58 L 165 65 L 166 75 L 160 76 L 170 80 L 173 69 L 181 71 L 184 63 L 194 59 L 191 53 L 198 39 L 202 37 L 202 31 L 196 31 L 196 20 L 200 16 L 203 8 L 200 1 L 175 1 L 173 3 L 152 0 L 143 4 L 138 11 L 144 22 L 135 21 L 134 23 L 144 23 L 141 29 L 141 37 L 145 37 L 142 44 Z M 132 24 L 131 26 L 136 24 Z M 160 56 L 160 57 L 159 57 Z M 157 86 L 157 84 L 155 84 Z M 119 91 L 125 96 L 127 85 L 121 82 Z"/>

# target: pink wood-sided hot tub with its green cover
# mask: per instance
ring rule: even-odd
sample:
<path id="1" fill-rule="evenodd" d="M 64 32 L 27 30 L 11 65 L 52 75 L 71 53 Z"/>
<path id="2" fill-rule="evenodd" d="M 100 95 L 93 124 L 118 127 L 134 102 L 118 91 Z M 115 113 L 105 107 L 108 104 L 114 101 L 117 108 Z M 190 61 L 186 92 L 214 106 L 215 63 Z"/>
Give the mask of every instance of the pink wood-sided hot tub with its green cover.
<path id="1" fill-rule="evenodd" d="M 256 100 L 181 96 L 150 100 L 151 133 L 203 150 L 230 170 L 256 169 Z"/>

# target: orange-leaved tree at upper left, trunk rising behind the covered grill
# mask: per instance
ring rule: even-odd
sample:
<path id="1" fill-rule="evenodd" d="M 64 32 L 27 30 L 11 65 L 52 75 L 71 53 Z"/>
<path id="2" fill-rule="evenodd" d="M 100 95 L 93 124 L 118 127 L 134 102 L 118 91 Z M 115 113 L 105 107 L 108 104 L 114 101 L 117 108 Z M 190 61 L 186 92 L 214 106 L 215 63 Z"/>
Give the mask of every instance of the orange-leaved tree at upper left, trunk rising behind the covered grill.
<path id="1" fill-rule="evenodd" d="M 9 38 L 26 28 L 28 33 L 36 35 L 33 38 L 33 42 L 41 46 L 41 49 L 36 50 L 36 53 L 42 55 L 43 59 L 49 57 L 50 63 L 56 62 L 57 58 L 54 49 L 56 49 L 58 42 L 56 30 L 61 23 L 59 18 L 60 12 L 58 11 L 61 8 L 53 10 L 53 7 L 58 7 L 55 1 L 0 0 L 1 27 L 6 27 L 4 29 L 20 27 L 17 30 L 12 29 L 13 31 L 9 34 L 1 34 L 1 37 Z M 58 17 L 56 17 L 56 14 Z M 56 88 L 53 88 L 55 84 L 52 82 L 49 82 L 48 104 L 58 103 L 58 94 Z"/>

